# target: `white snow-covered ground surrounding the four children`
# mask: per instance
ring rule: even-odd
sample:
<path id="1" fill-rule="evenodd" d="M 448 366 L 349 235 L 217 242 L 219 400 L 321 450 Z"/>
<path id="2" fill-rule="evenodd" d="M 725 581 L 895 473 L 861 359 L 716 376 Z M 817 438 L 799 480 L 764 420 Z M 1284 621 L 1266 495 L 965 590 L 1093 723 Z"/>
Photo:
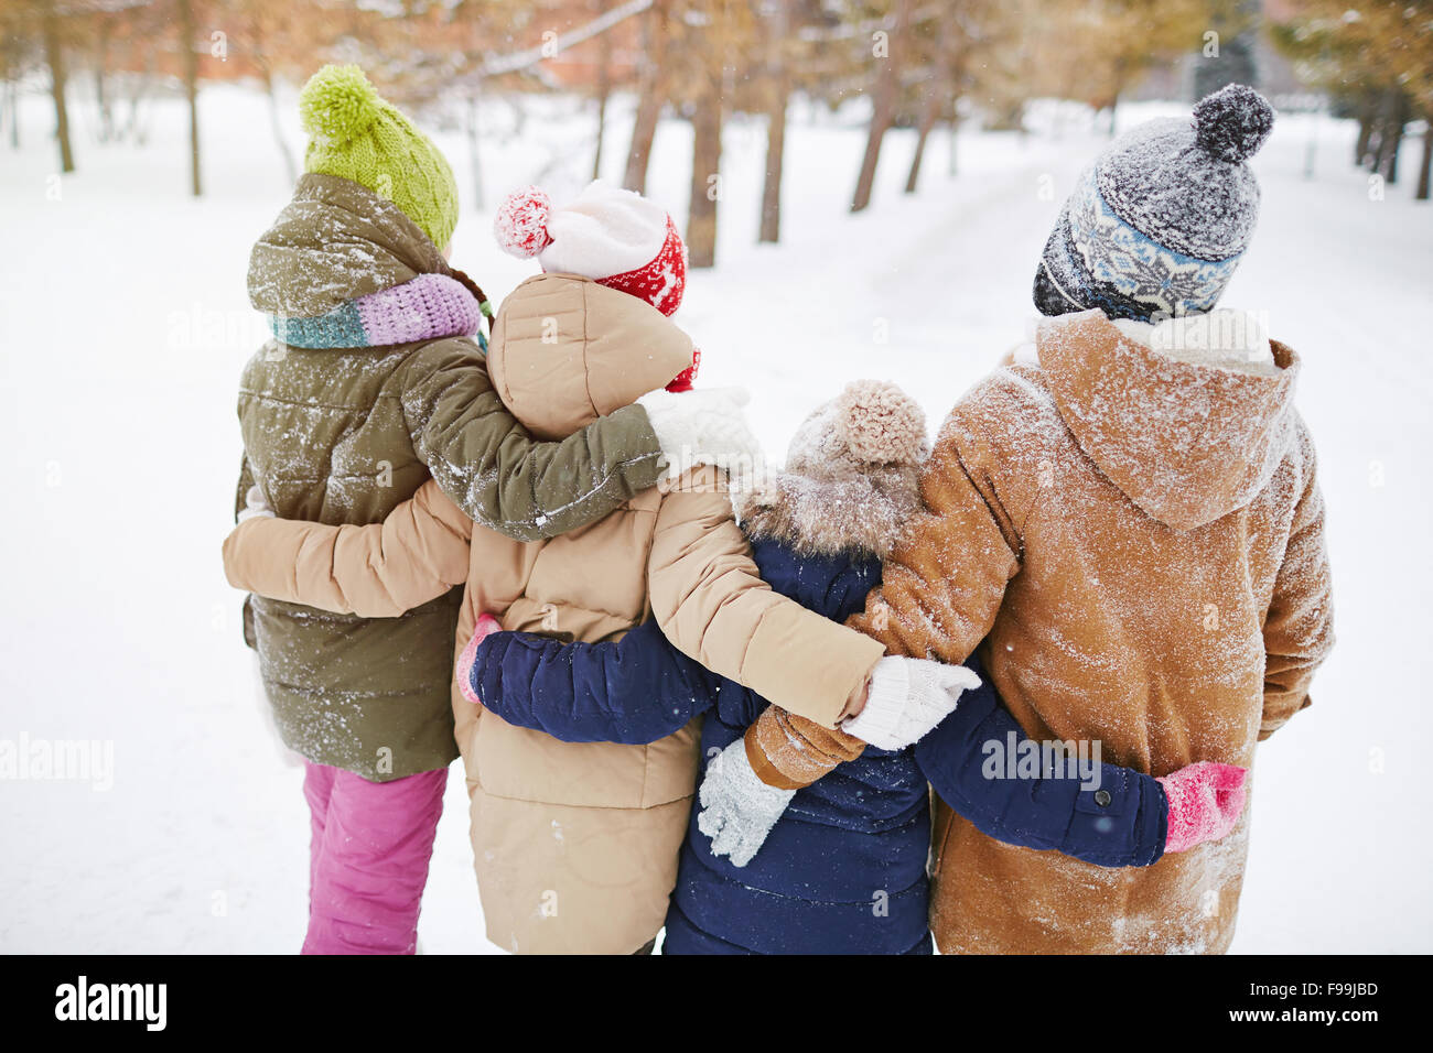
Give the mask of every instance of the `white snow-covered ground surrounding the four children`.
<path id="1" fill-rule="evenodd" d="M 113 751 L 112 771 L 89 781 L 0 781 L 0 951 L 282 953 L 302 937 L 299 772 L 268 738 L 219 566 L 235 383 L 259 340 L 248 251 L 288 185 L 259 96 L 212 89 L 201 105 L 199 202 L 172 102 L 153 107 L 145 149 L 97 146 L 80 106 L 80 172 L 63 181 L 43 99 L 24 100 L 23 149 L 0 145 L 0 744 Z M 851 218 L 857 117 L 797 112 L 778 248 L 754 244 L 762 128 L 731 126 L 719 266 L 694 275 L 682 308 L 702 381 L 751 388 L 772 453 L 856 377 L 903 384 L 939 421 L 1022 335 L 1059 202 L 1105 142 L 1079 117 L 1029 138 L 963 133 L 949 179 L 941 139 L 904 198 L 913 136 L 896 132 L 874 208 Z M 576 102 L 532 103 L 520 130 L 494 102 L 483 122 L 489 206 L 516 185 L 560 191 L 590 170 L 593 122 Z M 619 112 L 609 178 L 626 135 Z M 1433 205 L 1407 186 L 1373 199 L 1347 165 L 1351 136 L 1327 117 L 1278 123 L 1255 160 L 1260 232 L 1224 299 L 1267 311 L 1304 357 L 1338 603 L 1314 708 L 1260 751 L 1240 951 L 1433 950 L 1417 775 L 1433 731 Z M 438 139 L 467 195 L 454 262 L 502 297 L 530 268 L 493 248 L 463 136 Z M 679 221 L 688 149 L 689 129 L 663 123 L 649 192 Z M 496 951 L 456 774 L 447 805 L 423 946 Z"/>

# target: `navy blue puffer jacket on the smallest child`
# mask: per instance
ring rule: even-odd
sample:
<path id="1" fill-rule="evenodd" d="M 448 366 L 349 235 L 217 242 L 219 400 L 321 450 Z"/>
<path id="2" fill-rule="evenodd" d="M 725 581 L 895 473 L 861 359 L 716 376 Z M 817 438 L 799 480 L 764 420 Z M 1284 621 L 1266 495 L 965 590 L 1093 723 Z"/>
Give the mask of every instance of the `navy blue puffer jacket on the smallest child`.
<path id="1" fill-rule="evenodd" d="M 775 540 L 757 540 L 752 550 L 772 589 L 835 620 L 861 609 L 880 585 L 871 556 L 798 556 Z M 1148 775 L 1102 765 L 1099 791 L 1108 798 L 1073 776 L 982 775 L 984 744 L 1026 736 L 979 663 L 970 665 L 983 686 L 962 695 L 934 732 L 900 752 L 867 746 L 797 791 L 747 867 L 712 855 L 694 821 L 663 953 L 929 954 L 927 781 L 952 808 L 1010 844 L 1109 867 L 1159 858 L 1166 802 Z M 678 652 L 653 622 L 616 643 L 494 633 L 477 650 L 471 686 L 509 723 L 566 742 L 653 742 L 706 713 L 704 772 L 768 705 Z"/>

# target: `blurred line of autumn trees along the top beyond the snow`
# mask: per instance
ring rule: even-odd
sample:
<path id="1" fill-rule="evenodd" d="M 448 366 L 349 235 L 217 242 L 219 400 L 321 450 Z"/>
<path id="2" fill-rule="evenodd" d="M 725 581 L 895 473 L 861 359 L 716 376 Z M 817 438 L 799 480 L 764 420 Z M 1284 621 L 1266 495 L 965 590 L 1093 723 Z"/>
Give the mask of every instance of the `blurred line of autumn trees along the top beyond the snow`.
<path id="1" fill-rule="evenodd" d="M 851 209 L 861 211 L 893 128 L 914 132 L 904 182 L 914 193 L 941 129 L 954 175 L 962 122 L 1022 130 L 1032 100 L 1062 99 L 1102 113 L 1113 133 L 1121 100 L 1148 85 L 1188 100 L 1258 83 L 1271 54 L 1358 122 L 1354 163 L 1387 183 L 1400 178 L 1406 130 L 1422 122 L 1417 196 L 1427 199 L 1430 9 L 1430 0 L 0 0 L 0 136 L 19 148 L 17 97 L 44 92 L 59 170 L 73 172 L 77 100 L 95 143 L 143 145 L 149 100 L 179 96 L 198 195 L 203 85 L 241 80 L 268 97 L 278 158 L 295 175 L 299 143 L 285 139 L 281 92 L 324 62 L 357 62 L 396 100 L 461 123 L 481 206 L 484 100 L 513 100 L 519 122 L 532 93 L 586 100 L 598 173 L 612 168 L 603 142 L 622 97 L 633 115 L 619 166 L 631 189 L 646 186 L 659 120 L 691 122 L 686 234 L 692 264 L 706 266 L 716 254 L 722 128 L 734 115 L 765 125 L 754 219 L 758 239 L 775 242 L 794 100 L 864 120 L 851 173 Z"/>

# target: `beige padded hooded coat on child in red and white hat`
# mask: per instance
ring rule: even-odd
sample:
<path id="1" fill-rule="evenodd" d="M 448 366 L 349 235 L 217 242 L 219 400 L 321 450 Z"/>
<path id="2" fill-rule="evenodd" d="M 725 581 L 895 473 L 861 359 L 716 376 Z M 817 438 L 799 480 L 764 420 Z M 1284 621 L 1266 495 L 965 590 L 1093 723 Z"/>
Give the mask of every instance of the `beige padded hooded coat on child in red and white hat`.
<path id="1" fill-rule="evenodd" d="M 573 275 L 520 285 L 489 355 L 497 391 L 539 436 L 573 433 L 663 387 L 691 358 L 691 340 L 655 308 Z M 504 629 L 588 642 L 655 619 L 684 652 L 827 726 L 881 653 L 759 579 L 709 468 L 546 542 L 474 529 L 430 483 L 380 526 L 255 519 L 225 552 L 245 587 L 367 616 L 466 582 L 459 646 L 481 612 Z M 523 953 L 618 954 L 652 940 L 695 789 L 695 722 L 652 744 L 567 744 L 483 712 L 456 683 L 451 699 L 489 938 Z"/>

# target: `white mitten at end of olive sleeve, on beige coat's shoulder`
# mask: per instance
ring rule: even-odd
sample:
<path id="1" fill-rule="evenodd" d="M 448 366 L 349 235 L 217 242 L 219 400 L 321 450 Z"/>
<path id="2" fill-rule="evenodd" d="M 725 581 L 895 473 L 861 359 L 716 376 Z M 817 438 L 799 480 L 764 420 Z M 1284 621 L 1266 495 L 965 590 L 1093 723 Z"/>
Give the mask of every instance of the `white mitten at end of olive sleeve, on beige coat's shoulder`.
<path id="1" fill-rule="evenodd" d="M 748 479 L 765 463 L 761 443 L 742 411 L 748 400 L 745 388 L 706 388 L 649 391 L 636 404 L 646 410 L 669 477 L 696 464 L 712 464 L 729 476 Z"/>

